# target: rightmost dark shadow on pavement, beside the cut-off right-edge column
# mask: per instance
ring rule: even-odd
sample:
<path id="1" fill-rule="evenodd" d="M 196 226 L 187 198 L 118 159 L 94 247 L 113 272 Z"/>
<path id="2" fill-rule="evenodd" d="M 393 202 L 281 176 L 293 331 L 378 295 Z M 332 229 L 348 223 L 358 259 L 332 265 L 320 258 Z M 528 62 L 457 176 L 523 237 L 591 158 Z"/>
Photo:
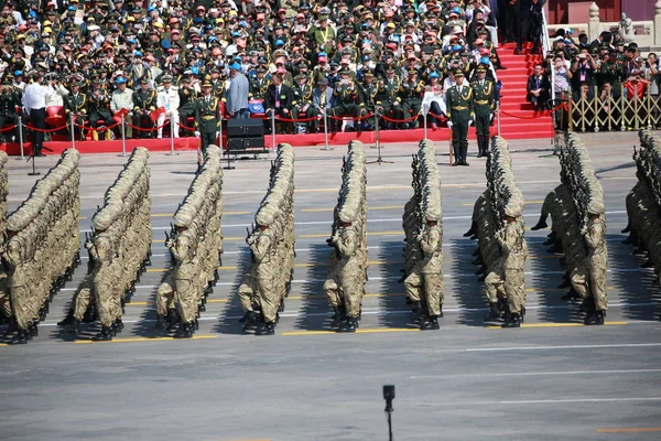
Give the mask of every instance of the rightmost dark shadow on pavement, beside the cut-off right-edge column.
<path id="1" fill-rule="evenodd" d="M 658 320 L 654 304 L 661 301 L 661 291 L 654 284 L 657 278 L 652 269 L 636 270 L 647 257 L 632 255 L 633 247 L 622 244 L 626 236 L 607 234 L 608 281 L 618 290 L 622 318 L 628 320 Z M 611 301 L 611 300 L 610 300 Z"/>

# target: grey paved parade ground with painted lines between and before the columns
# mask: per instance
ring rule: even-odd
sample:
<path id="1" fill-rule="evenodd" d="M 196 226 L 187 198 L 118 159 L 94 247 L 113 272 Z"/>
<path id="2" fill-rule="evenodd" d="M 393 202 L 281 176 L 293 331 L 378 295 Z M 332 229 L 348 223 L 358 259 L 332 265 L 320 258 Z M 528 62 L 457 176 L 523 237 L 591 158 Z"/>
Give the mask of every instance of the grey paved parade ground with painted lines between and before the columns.
<path id="1" fill-rule="evenodd" d="M 484 160 L 447 166 L 444 182 L 445 318 L 437 332 L 408 332 L 401 268 L 401 214 L 411 195 L 414 146 L 383 150 L 393 163 L 368 165 L 369 277 L 360 333 L 324 332 L 325 244 L 344 149 L 296 149 L 297 258 L 279 335 L 239 335 L 237 282 L 248 263 L 243 237 L 263 196 L 269 161 L 225 174 L 226 255 L 193 341 L 152 340 L 155 286 L 170 265 L 163 232 L 185 195 L 195 154 L 152 158 L 153 266 L 127 305 L 112 343 L 65 341 L 61 320 L 77 282 L 57 294 L 41 335 L 0 347 L 0 439 L 387 440 L 381 386 L 397 385 L 398 440 L 657 440 L 661 433 L 660 291 L 620 244 L 625 196 L 635 183 L 636 133 L 585 136 L 606 194 L 609 325 L 579 325 L 578 305 L 560 300 L 563 272 L 529 232 L 528 315 L 521 330 L 485 329 L 487 304 L 462 237 L 485 189 Z M 549 141 L 510 143 L 529 226 L 559 181 Z M 377 151 L 368 151 L 376 159 Z M 124 159 L 82 160 L 82 230 Z M 42 171 L 55 162 L 40 159 Z M 10 209 L 34 178 L 10 160 Z M 84 329 L 91 335 L 95 326 Z"/>

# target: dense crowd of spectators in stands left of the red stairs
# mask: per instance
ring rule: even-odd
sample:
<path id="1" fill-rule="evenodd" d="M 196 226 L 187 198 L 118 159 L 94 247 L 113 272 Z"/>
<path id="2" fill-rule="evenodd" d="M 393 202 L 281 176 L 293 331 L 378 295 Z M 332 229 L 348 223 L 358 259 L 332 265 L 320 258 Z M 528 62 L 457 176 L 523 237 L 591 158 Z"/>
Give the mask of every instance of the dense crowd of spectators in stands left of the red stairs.
<path id="1" fill-rule="evenodd" d="M 412 128 L 426 95 L 435 129 L 457 72 L 469 83 L 481 66 L 494 82 L 505 68 L 498 22 L 519 46 L 537 32 L 529 24 L 543 1 L 500 3 L 3 1 L 0 126 L 20 116 L 44 129 L 48 110 L 62 106 L 64 130 L 73 115 L 76 138 L 162 137 L 165 129 L 209 143 L 220 115 L 275 114 L 279 131 L 315 132 L 323 112 L 330 130 L 370 130 L 373 118 L 343 125 L 339 117 L 378 111 L 390 119 L 383 128 Z M 17 140 L 15 130 L 0 136 Z M 34 133 L 36 153 L 43 138 Z"/>

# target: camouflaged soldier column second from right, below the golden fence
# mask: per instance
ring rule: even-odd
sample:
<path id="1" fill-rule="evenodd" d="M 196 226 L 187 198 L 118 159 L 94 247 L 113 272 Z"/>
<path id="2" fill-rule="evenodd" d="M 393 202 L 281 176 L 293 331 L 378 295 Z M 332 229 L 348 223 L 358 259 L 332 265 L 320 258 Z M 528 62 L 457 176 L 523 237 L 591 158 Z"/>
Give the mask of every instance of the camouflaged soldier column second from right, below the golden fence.
<path id="1" fill-rule="evenodd" d="M 545 228 L 551 215 L 550 251 L 564 252 L 567 271 L 559 288 L 571 287 L 562 299 L 583 299 L 584 323 L 604 324 L 608 282 L 604 191 L 576 135 L 567 135 L 560 163 L 561 184 L 544 198 L 540 220 L 531 229 Z"/>

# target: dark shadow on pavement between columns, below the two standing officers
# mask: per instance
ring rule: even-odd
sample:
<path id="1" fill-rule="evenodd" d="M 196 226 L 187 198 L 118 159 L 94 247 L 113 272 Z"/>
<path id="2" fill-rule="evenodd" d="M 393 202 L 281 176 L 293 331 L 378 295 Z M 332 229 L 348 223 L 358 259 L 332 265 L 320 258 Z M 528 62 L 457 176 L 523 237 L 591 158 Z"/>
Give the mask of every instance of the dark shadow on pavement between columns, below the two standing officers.
<path id="1" fill-rule="evenodd" d="M 469 238 L 451 239 L 443 247 L 445 304 L 457 304 L 456 323 L 468 326 L 484 326 L 488 301 L 484 295 L 484 282 L 479 281 L 473 265 L 477 241 Z M 446 314 L 452 314 L 447 308 Z"/>

